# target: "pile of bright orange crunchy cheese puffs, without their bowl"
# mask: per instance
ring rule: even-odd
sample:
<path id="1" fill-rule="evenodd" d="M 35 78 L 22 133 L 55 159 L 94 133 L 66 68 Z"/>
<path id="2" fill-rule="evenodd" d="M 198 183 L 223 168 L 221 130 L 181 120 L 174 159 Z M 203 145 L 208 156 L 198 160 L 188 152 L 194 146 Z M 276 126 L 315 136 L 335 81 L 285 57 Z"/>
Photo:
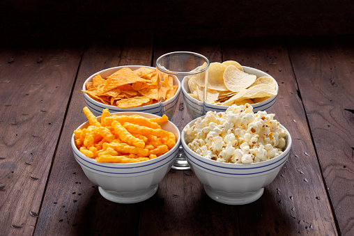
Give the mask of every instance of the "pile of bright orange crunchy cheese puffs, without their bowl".
<path id="1" fill-rule="evenodd" d="M 168 121 L 166 115 L 151 119 L 138 115 L 110 116 L 108 109 L 104 109 L 99 122 L 87 107 L 83 110 L 90 125 L 74 131 L 75 145 L 97 162 L 144 162 L 164 155 L 176 145 L 175 134 L 158 125 Z"/>

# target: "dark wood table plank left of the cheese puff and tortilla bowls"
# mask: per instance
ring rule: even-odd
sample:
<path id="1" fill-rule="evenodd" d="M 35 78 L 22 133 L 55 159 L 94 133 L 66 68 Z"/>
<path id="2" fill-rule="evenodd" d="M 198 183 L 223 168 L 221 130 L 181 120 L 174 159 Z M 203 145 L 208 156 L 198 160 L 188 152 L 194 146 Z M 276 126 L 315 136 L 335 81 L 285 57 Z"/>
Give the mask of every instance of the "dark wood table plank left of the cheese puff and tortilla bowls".
<path id="1" fill-rule="evenodd" d="M 151 65 L 152 38 L 90 41 L 84 51 L 68 116 L 40 210 L 35 235 L 137 235 L 140 204 L 103 198 L 70 148 L 72 132 L 86 121 L 82 84 L 91 74 L 118 65 Z"/>

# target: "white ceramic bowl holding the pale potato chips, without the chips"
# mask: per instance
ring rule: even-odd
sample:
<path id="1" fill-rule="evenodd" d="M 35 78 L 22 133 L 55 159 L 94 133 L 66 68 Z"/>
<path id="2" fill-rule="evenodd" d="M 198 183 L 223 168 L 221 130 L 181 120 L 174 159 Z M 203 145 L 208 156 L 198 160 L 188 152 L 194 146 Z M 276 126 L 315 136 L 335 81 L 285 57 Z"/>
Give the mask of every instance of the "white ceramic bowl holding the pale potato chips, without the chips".
<path id="1" fill-rule="evenodd" d="M 256 75 L 257 78 L 265 77 L 265 76 L 271 77 L 269 74 L 267 74 L 261 70 L 257 70 L 255 68 L 249 68 L 247 66 L 243 66 L 243 70 L 249 74 Z M 271 78 L 273 78 L 273 77 L 271 77 Z M 278 89 L 279 89 L 278 84 L 276 86 L 277 86 L 276 91 L 278 93 Z M 193 118 L 197 118 L 199 116 L 198 111 L 201 111 L 202 109 L 203 109 L 203 113 L 206 113 L 208 111 L 223 112 L 229 108 L 229 106 L 221 106 L 221 105 L 210 104 L 210 103 L 206 103 L 206 106 L 203 107 L 203 102 L 191 97 L 188 93 L 190 93 L 190 88 L 188 86 L 188 80 L 185 77 L 182 81 L 182 94 L 183 94 L 183 98 L 185 100 L 185 103 L 187 104 L 186 107 L 187 107 L 188 113 L 190 113 L 190 115 Z M 270 109 L 272 108 L 272 106 L 275 104 L 276 100 L 277 100 L 277 95 L 275 95 L 274 97 L 270 97 L 268 100 L 265 100 L 263 102 L 252 104 L 251 106 L 253 107 L 253 112 L 254 113 L 256 113 L 257 111 L 269 112 Z"/>

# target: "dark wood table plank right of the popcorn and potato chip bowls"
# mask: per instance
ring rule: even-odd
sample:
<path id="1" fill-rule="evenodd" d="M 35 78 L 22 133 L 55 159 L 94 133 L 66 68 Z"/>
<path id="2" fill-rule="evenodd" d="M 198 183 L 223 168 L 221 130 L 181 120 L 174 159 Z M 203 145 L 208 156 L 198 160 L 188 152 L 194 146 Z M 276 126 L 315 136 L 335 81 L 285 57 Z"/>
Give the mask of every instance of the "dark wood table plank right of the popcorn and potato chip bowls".
<path id="1" fill-rule="evenodd" d="M 293 138 L 291 156 L 263 196 L 240 206 L 240 234 L 337 235 L 286 46 L 282 40 L 253 38 L 224 42 L 222 52 L 224 61 L 238 61 L 277 80 L 279 95 L 271 112 Z"/>

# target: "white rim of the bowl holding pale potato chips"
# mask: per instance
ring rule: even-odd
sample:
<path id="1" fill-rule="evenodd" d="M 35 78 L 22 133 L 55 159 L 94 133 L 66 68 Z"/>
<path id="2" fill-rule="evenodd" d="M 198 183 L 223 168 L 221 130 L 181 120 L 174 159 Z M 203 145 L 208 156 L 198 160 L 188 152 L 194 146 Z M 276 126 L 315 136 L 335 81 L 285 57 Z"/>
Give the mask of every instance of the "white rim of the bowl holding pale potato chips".
<path id="1" fill-rule="evenodd" d="M 263 72 L 262 70 L 259 70 L 259 69 L 256 69 L 256 68 L 251 68 L 251 67 L 248 67 L 248 66 L 242 66 L 243 67 L 243 69 L 246 69 L 246 70 L 256 70 L 257 72 L 261 72 L 261 73 L 264 73 L 265 75 L 263 75 L 263 77 L 270 77 L 270 78 L 272 78 L 272 79 L 274 79 L 270 74 L 268 74 L 268 73 L 266 73 L 266 72 Z M 259 78 L 259 77 L 258 77 Z M 184 77 L 183 78 L 183 80 L 182 80 L 182 82 L 180 83 L 181 84 L 181 86 L 182 86 L 182 93 L 183 93 L 183 95 L 185 95 L 185 97 L 187 98 L 187 100 L 190 100 L 190 102 L 192 102 L 193 104 L 196 104 L 197 106 L 201 106 L 202 104 L 203 104 L 203 102 L 201 102 L 201 101 L 199 101 L 199 100 L 197 100 L 197 99 L 195 99 L 194 97 L 191 97 L 188 93 L 187 93 L 187 91 L 185 90 L 185 83 L 186 83 L 186 80 L 187 79 L 187 77 Z M 275 80 L 275 84 L 276 84 L 276 86 L 275 86 L 275 90 L 277 91 L 277 95 L 275 95 L 275 96 L 273 96 L 273 97 L 270 97 L 270 98 L 268 98 L 267 100 L 264 100 L 264 101 L 262 101 L 262 102 L 257 102 L 257 103 L 254 103 L 254 104 L 250 104 L 254 109 L 257 109 L 257 108 L 259 108 L 259 107 L 263 107 L 263 106 L 265 106 L 265 105 L 267 105 L 267 104 L 270 104 L 270 103 L 272 103 L 274 100 L 276 100 L 277 99 L 277 96 L 278 96 L 278 93 L 279 93 L 279 85 L 278 85 L 278 83 L 277 83 L 277 80 L 276 79 L 274 79 Z M 201 102 L 201 104 L 198 104 L 198 103 L 200 103 Z M 211 103 L 208 103 L 208 102 L 205 102 L 205 104 L 206 104 L 206 107 L 207 108 L 212 108 L 212 109 L 220 109 L 220 110 L 226 110 L 227 108 L 229 108 L 229 107 L 231 107 L 231 106 L 224 106 L 224 105 L 217 105 L 217 104 L 211 104 Z M 256 105 L 256 106 L 255 106 Z M 270 106 L 270 107 L 272 107 L 272 106 Z M 269 107 L 267 107 L 267 108 L 265 108 L 265 109 L 268 109 Z M 265 110 L 265 109 L 263 109 L 263 110 Z"/>

